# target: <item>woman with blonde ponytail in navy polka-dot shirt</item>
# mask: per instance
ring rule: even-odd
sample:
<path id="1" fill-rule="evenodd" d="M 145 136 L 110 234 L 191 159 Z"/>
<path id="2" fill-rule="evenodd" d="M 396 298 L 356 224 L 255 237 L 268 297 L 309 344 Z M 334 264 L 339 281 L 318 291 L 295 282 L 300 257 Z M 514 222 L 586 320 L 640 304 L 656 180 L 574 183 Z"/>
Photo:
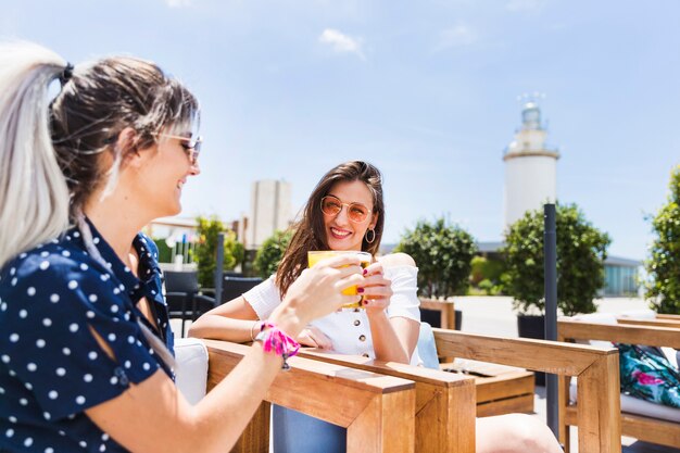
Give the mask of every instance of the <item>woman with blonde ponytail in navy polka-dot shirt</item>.
<path id="1" fill-rule="evenodd" d="M 303 272 L 234 372 L 186 401 L 158 251 L 139 231 L 179 213 L 200 173 L 198 118 L 151 62 L 74 67 L 0 45 L 1 451 L 228 451 L 304 326 L 357 301 L 341 294 L 363 280 L 357 259 Z"/>

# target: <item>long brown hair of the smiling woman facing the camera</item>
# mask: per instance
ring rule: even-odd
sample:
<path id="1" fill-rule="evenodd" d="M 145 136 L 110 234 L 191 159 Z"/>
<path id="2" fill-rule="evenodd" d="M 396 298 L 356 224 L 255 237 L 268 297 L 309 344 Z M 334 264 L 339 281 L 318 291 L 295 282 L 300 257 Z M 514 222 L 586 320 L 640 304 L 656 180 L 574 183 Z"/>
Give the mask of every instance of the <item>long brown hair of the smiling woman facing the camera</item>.
<path id="1" fill-rule="evenodd" d="M 382 201 L 382 176 L 374 165 L 362 162 L 345 162 L 330 169 L 318 181 L 302 212 L 302 218 L 291 226 L 294 231 L 281 264 L 276 274 L 276 284 L 281 299 L 288 288 L 307 266 L 307 252 L 311 250 L 328 250 L 324 215 L 320 212 L 322 199 L 338 183 L 362 181 L 373 196 L 373 215 L 378 216 L 375 226 L 375 240 L 368 243 L 364 237 L 362 250 L 375 255 L 380 249 L 382 228 L 385 226 L 385 202 Z"/>

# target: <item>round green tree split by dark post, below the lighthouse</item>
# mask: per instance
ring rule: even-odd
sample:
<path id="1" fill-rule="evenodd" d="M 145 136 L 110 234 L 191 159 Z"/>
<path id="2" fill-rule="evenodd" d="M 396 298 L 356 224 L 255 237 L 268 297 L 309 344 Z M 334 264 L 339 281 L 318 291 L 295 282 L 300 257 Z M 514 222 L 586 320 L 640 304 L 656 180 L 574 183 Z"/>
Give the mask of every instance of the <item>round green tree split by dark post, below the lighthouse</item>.
<path id="1" fill-rule="evenodd" d="M 557 306 L 567 316 L 596 311 L 593 299 L 604 286 L 604 260 L 612 242 L 589 223 L 576 204 L 556 206 Z M 504 292 L 520 313 L 545 312 L 543 210 L 530 211 L 505 237 Z"/>

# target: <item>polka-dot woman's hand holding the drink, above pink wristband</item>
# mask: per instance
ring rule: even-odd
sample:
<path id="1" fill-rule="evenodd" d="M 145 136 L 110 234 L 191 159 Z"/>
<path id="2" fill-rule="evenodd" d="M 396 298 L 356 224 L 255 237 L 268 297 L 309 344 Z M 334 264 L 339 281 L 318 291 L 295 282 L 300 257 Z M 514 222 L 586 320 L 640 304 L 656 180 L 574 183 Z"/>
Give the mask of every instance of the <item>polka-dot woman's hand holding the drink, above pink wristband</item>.
<path id="1" fill-rule="evenodd" d="M 356 255 L 322 260 L 300 274 L 269 319 L 276 323 L 276 318 L 285 317 L 286 324 L 289 324 L 286 331 L 298 336 L 311 320 L 336 312 L 344 304 L 358 302 L 358 295 L 344 295 L 342 290 L 363 280 L 363 269 Z"/>

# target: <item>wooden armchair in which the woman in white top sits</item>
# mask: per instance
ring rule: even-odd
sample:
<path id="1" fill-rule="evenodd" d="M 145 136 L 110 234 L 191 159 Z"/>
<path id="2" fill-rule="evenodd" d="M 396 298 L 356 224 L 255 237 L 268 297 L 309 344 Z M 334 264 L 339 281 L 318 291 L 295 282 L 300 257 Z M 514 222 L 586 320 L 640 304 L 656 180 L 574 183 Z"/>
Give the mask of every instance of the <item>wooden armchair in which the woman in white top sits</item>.
<path id="1" fill-rule="evenodd" d="M 618 423 L 618 353 L 561 342 L 505 339 L 456 330 L 433 329 L 437 350 L 446 356 L 481 360 L 561 376 L 578 376 L 578 394 L 584 404 L 576 415 L 579 451 L 620 453 Z M 415 451 L 475 451 L 475 386 L 450 373 L 365 357 L 304 351 L 302 355 L 347 367 L 413 380 L 416 385 Z M 439 393 L 439 394 L 438 394 Z"/>

